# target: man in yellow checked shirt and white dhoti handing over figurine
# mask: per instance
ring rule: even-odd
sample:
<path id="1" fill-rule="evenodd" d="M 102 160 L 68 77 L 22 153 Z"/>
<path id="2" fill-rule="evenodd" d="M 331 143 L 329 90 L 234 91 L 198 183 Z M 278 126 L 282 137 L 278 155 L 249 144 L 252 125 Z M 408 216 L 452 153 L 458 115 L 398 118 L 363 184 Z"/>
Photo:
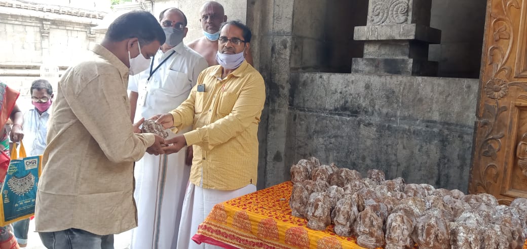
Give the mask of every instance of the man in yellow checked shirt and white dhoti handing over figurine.
<path id="1" fill-rule="evenodd" d="M 220 31 L 219 65 L 201 72 L 190 96 L 178 108 L 152 117 L 165 128 L 181 130 L 193 125 L 192 131 L 166 140 L 166 144 L 173 144 L 164 147 L 167 154 L 187 145 L 194 148 L 178 248 L 204 248 L 191 237 L 212 207 L 256 191 L 264 79 L 243 56 L 250 46 L 249 28 L 230 21 Z"/>

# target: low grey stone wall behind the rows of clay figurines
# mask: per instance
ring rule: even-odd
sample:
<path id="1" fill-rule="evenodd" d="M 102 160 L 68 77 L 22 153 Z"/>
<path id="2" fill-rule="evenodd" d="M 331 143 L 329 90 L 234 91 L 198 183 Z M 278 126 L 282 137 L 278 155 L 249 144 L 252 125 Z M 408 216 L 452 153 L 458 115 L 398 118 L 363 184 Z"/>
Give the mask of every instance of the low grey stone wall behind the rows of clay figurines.
<path id="1" fill-rule="evenodd" d="M 286 165 L 315 156 L 466 192 L 477 88 L 476 79 L 294 73 Z"/>

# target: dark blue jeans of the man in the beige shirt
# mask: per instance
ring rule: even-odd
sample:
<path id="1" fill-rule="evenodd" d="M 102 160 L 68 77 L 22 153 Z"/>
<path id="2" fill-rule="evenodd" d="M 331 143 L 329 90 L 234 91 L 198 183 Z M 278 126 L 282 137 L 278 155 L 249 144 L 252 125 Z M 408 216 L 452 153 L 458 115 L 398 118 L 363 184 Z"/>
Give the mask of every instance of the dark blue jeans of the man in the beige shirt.
<path id="1" fill-rule="evenodd" d="M 58 232 L 38 233 L 47 249 L 113 249 L 113 234 L 97 235 L 70 228 Z"/>

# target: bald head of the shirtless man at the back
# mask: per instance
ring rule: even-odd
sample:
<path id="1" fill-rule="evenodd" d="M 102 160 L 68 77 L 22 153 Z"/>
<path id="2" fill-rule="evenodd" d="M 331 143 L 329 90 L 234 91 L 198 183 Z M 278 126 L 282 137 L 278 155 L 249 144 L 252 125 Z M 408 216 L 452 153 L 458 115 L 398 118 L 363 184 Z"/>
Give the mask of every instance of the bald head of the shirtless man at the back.
<path id="1" fill-rule="evenodd" d="M 214 1 L 204 3 L 201 6 L 199 16 L 201 28 L 209 34 L 217 33 L 220 30 L 221 23 L 227 21 L 223 6 Z"/>

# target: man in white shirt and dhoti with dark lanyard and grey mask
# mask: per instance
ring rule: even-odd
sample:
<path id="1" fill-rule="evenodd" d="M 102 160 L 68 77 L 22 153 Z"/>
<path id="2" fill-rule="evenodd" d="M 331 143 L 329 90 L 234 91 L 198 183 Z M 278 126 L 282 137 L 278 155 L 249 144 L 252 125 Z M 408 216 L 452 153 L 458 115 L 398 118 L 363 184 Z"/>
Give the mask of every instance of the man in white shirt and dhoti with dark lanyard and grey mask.
<path id="1" fill-rule="evenodd" d="M 152 59 L 150 68 L 129 79 L 132 122 L 166 113 L 181 104 L 196 85 L 201 71 L 208 67 L 201 55 L 183 44 L 188 32 L 183 12 L 165 9 L 159 21 L 166 42 Z M 171 155 L 145 155 L 135 164 L 134 196 L 139 226 L 132 233 L 132 249 L 175 248 L 191 160 L 189 147 Z"/>

